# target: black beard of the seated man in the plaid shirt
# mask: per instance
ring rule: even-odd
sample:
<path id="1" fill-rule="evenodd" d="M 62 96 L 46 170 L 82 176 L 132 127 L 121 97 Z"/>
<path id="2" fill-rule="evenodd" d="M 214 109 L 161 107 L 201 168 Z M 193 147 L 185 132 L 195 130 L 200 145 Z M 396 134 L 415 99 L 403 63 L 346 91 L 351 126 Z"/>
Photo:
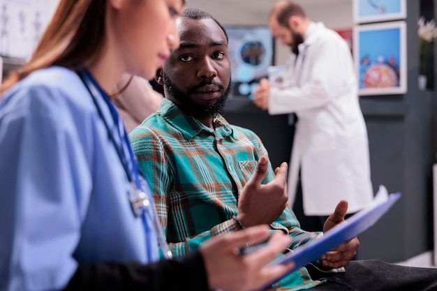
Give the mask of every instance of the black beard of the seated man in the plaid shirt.
<path id="1" fill-rule="evenodd" d="M 225 103 L 228 99 L 228 95 L 230 94 L 230 91 L 232 89 L 231 80 L 229 79 L 229 86 L 225 89 L 225 87 L 222 84 L 216 83 L 216 82 L 201 82 L 200 84 L 190 87 L 187 89 L 186 93 L 182 92 L 180 89 L 178 89 L 173 83 L 168 75 L 162 72 L 163 82 L 165 90 L 168 91 L 168 94 L 172 96 L 177 101 L 177 106 L 182 109 L 185 113 L 191 115 L 192 117 L 196 119 L 204 119 L 206 117 L 214 117 L 217 114 L 223 114 L 225 111 Z M 198 103 L 195 103 L 191 98 L 191 94 L 195 93 L 199 88 L 207 85 L 212 84 L 221 91 L 221 97 L 218 98 L 216 103 L 211 103 L 208 105 L 199 105 Z"/>

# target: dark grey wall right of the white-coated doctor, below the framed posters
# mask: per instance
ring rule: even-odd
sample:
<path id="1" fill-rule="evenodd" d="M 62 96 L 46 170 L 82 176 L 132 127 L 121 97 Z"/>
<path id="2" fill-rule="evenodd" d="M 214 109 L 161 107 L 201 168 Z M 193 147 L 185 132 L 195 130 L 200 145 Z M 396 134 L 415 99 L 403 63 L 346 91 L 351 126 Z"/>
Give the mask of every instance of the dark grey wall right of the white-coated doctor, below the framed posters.
<path id="1" fill-rule="evenodd" d="M 431 1 L 427 1 L 431 2 Z M 407 1 L 408 92 L 401 96 L 361 98 L 369 132 L 373 188 L 385 184 L 402 199 L 387 216 L 360 237 L 360 258 L 406 260 L 432 246 L 432 164 L 436 136 L 431 113 L 434 92 L 420 91 L 417 20 L 420 1 Z"/>

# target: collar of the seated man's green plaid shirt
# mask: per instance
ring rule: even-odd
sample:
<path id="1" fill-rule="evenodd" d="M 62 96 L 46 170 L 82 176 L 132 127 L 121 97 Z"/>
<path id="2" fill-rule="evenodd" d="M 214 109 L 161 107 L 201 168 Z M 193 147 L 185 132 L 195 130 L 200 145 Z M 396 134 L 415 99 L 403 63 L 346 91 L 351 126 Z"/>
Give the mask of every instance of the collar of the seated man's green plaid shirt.
<path id="1" fill-rule="evenodd" d="M 214 129 L 212 129 L 194 117 L 184 114 L 175 103 L 167 98 L 163 99 L 156 113 L 161 115 L 171 126 L 177 128 L 186 140 L 191 140 L 200 133 L 216 135 L 217 138 L 228 137 L 234 133 L 232 126 L 220 114 L 214 117 Z"/>

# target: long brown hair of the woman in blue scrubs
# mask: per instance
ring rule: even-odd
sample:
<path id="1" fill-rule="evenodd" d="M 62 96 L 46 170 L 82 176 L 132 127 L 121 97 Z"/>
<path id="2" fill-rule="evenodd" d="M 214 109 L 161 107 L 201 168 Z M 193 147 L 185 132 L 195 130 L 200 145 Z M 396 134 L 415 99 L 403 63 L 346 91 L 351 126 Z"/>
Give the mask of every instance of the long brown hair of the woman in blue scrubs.
<path id="1" fill-rule="evenodd" d="M 103 0 L 61 0 L 30 61 L 3 81 L 0 96 L 40 68 L 96 61 L 104 46 L 105 7 Z"/>

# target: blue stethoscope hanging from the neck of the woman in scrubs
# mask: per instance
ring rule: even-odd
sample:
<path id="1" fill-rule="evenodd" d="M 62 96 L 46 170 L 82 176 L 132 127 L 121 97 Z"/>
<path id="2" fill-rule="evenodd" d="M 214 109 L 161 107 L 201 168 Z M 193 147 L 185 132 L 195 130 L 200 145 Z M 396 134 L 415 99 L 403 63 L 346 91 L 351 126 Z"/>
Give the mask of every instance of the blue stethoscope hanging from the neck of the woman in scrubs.
<path id="1" fill-rule="evenodd" d="M 140 174 L 140 169 L 138 167 L 138 161 L 133 154 L 133 149 L 131 147 L 131 142 L 129 142 L 129 137 L 126 132 L 126 128 L 124 128 L 123 122 L 121 122 L 119 114 L 112 104 L 110 97 L 108 94 L 98 86 L 94 77 L 89 73 L 89 71 L 85 68 L 81 70 L 77 70 L 77 75 L 79 75 L 80 80 L 84 83 L 85 87 L 89 91 L 91 98 L 93 99 L 94 105 L 96 106 L 99 117 L 102 119 L 103 124 L 105 124 L 106 130 L 108 130 L 108 136 L 114 144 L 114 148 L 117 151 L 117 156 L 121 161 L 121 164 L 124 167 L 124 171 L 126 172 L 126 177 L 128 181 L 133 185 L 133 191 L 129 195 L 128 199 L 131 203 L 131 208 L 135 217 L 141 217 L 143 226 L 145 227 L 145 232 L 147 233 L 147 220 L 150 220 L 152 225 L 154 226 L 154 230 L 156 232 L 156 237 L 158 237 L 158 245 L 161 247 L 161 251 L 163 251 L 164 258 L 170 259 L 173 257 L 170 248 L 168 247 L 167 240 L 163 234 L 163 229 L 161 227 L 161 223 L 158 221 L 158 216 L 156 215 L 156 209 L 154 209 L 154 204 L 151 201 L 151 191 L 149 185 L 145 181 L 145 179 Z M 108 122 L 103 115 L 101 110 L 101 106 L 98 104 L 98 99 L 103 99 L 108 105 L 108 108 L 111 112 L 112 119 L 114 119 L 114 124 L 117 125 L 117 133 L 119 134 L 119 138 L 121 140 L 121 148 L 119 147 L 119 143 L 115 140 L 114 135 L 112 134 L 112 130 L 108 125 Z M 128 158 L 126 157 L 128 156 Z M 149 195 L 148 195 L 148 194 Z"/>

